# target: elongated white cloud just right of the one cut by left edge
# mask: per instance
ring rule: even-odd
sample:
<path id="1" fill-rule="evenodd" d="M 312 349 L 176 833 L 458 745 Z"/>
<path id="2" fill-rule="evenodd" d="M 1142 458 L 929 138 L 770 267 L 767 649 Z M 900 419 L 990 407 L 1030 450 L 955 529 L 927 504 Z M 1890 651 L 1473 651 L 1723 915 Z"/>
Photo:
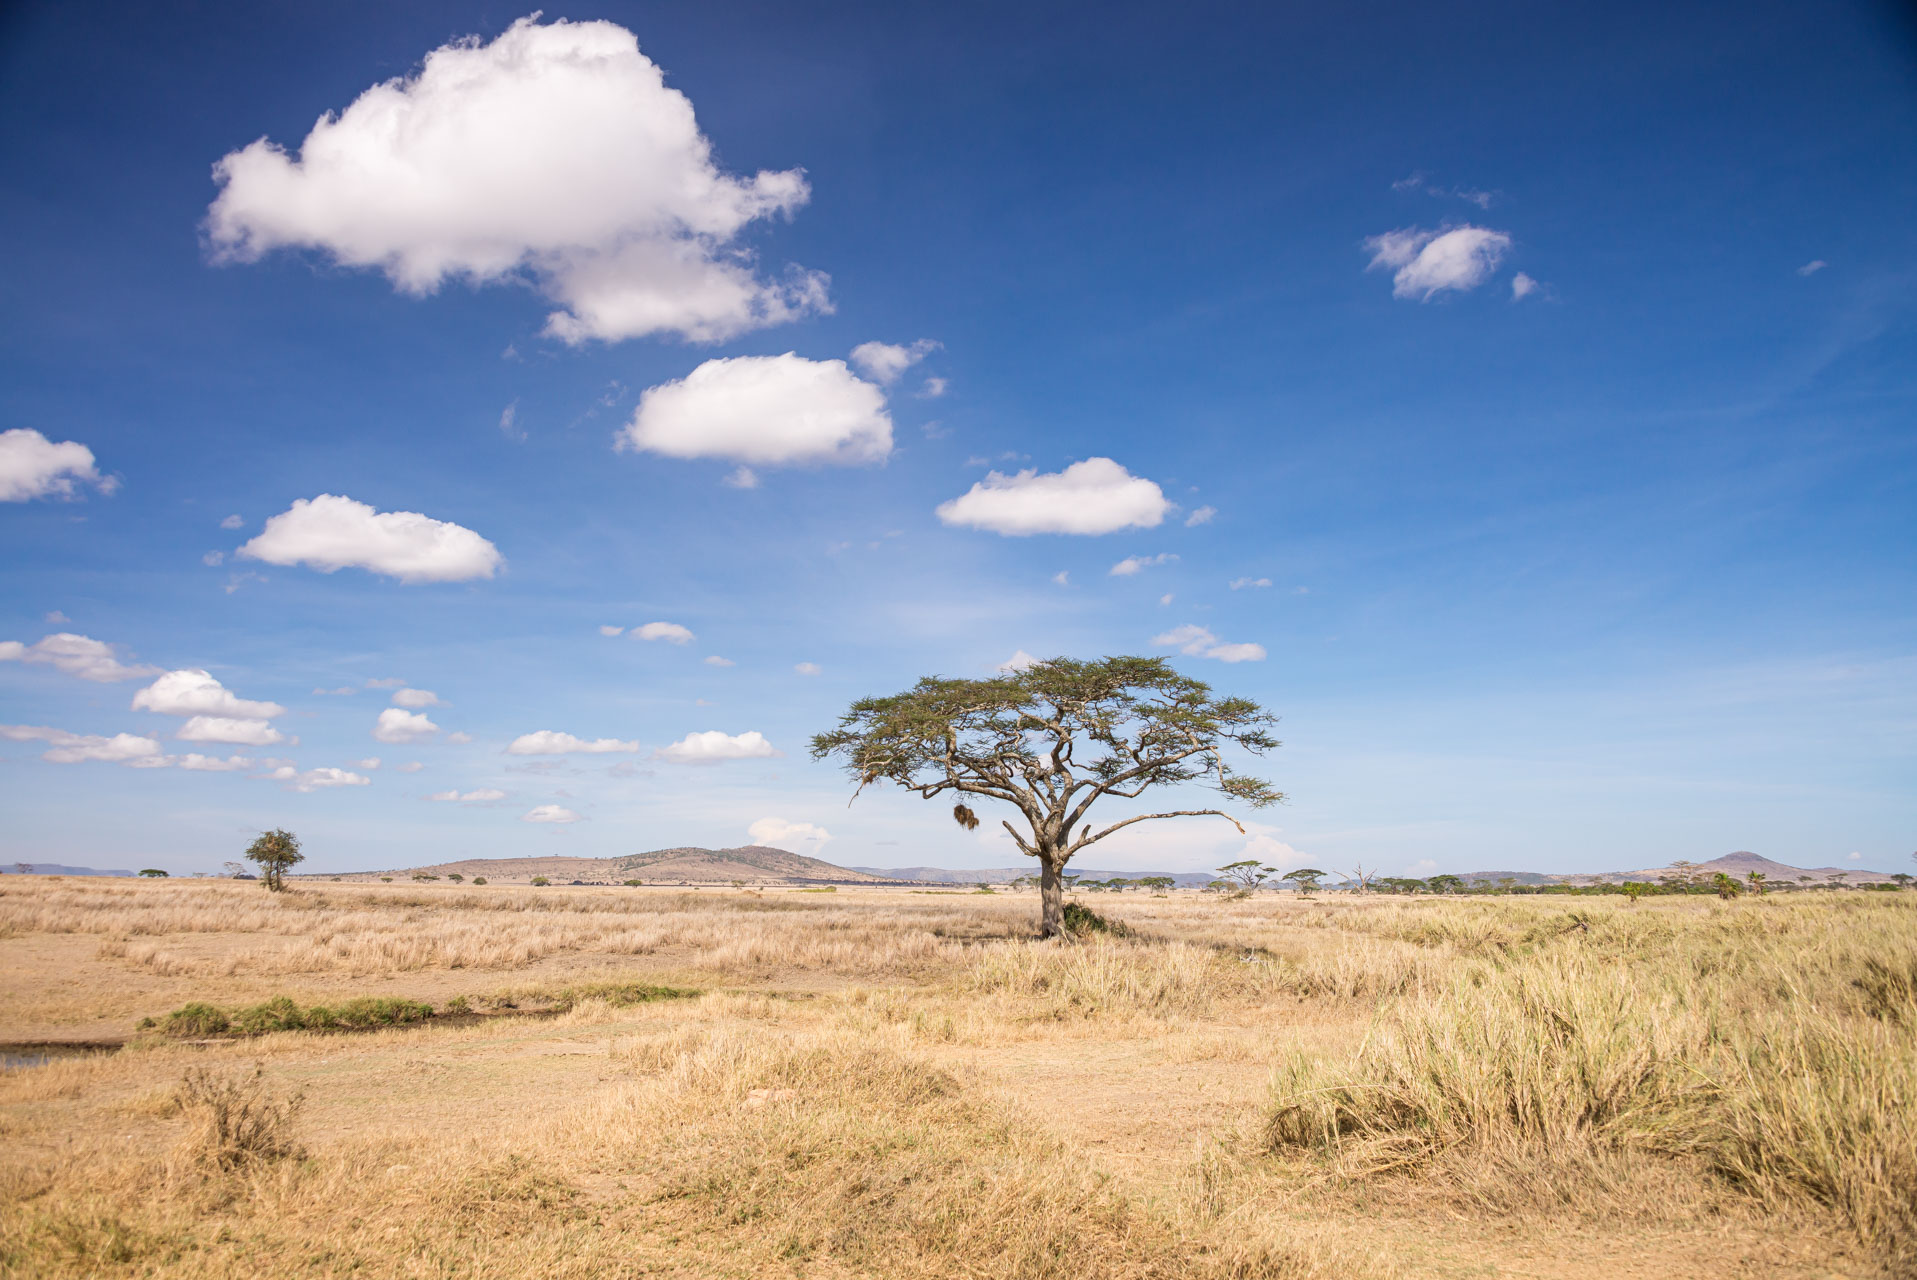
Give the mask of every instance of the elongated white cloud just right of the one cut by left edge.
<path id="1" fill-rule="evenodd" d="M 238 554 L 320 573 L 370 569 L 401 583 L 489 579 L 504 563 L 497 546 L 464 525 L 418 512 L 376 512 L 330 492 L 299 498 Z"/>

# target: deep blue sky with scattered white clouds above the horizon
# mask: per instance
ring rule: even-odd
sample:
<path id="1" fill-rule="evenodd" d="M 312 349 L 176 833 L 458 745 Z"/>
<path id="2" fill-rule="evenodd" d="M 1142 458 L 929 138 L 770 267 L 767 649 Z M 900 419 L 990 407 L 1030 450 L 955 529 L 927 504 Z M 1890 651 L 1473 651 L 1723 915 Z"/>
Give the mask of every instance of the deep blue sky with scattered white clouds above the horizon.
<path id="1" fill-rule="evenodd" d="M 1892 6 L 527 17 L 0 17 L 8 860 L 1010 864 L 807 736 L 1156 651 L 1098 866 L 1907 864 Z"/>

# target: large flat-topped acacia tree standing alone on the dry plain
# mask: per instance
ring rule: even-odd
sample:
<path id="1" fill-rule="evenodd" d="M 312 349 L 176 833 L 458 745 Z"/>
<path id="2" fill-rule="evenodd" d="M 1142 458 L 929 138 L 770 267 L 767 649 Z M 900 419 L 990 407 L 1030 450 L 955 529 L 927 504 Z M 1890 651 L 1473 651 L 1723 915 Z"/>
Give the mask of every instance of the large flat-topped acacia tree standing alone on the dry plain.
<path id="1" fill-rule="evenodd" d="M 1162 657 L 1054 657 L 989 680 L 926 676 L 889 697 L 865 697 L 836 730 L 813 738 L 813 759 L 838 759 L 863 791 L 891 782 L 934 799 L 958 795 L 953 818 L 980 818 L 966 797 L 1012 805 L 1012 841 L 1039 860 L 1041 933 L 1064 933 L 1066 862 L 1135 822 L 1238 820 L 1223 809 L 1173 809 L 1095 828 L 1091 807 L 1114 795 L 1200 782 L 1263 809 L 1284 799 L 1269 782 L 1236 772 L 1227 745 L 1263 755 L 1279 745 L 1277 717 L 1248 697 L 1215 697 Z M 857 799 L 859 793 L 853 793 Z"/>

